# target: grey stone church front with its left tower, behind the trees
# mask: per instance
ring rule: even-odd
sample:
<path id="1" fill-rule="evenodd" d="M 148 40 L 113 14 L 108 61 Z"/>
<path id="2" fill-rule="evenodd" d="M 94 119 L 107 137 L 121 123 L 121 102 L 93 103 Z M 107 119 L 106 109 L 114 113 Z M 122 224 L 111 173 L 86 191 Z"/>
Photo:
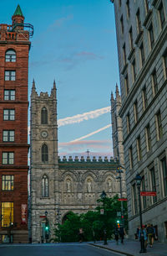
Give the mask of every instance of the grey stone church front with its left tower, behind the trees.
<path id="1" fill-rule="evenodd" d="M 30 144 L 30 239 L 33 243 L 53 238 L 53 229 L 66 219 L 68 212 L 94 210 L 102 191 L 109 197 L 119 194 L 119 179 L 116 179 L 119 162 L 112 157 L 58 158 L 55 82 L 49 96 L 48 92 L 38 95 L 33 81 Z"/>

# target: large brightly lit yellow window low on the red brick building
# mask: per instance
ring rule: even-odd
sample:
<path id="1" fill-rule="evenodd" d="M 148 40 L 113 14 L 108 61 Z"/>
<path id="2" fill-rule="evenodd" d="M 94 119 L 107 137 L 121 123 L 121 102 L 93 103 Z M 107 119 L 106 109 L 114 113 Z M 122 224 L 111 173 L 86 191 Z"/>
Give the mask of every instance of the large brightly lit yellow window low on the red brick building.
<path id="1" fill-rule="evenodd" d="M 13 202 L 2 202 L 2 227 L 9 227 L 13 222 Z"/>

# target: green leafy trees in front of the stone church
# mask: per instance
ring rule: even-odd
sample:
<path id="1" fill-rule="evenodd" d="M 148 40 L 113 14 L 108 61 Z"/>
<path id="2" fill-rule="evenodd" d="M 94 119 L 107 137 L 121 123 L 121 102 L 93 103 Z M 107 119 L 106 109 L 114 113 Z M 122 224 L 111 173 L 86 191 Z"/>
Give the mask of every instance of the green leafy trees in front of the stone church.
<path id="1" fill-rule="evenodd" d="M 114 227 L 118 220 L 117 212 L 120 212 L 121 202 L 119 196 L 112 198 L 106 197 L 99 199 L 99 206 L 95 211 L 89 211 L 80 215 L 69 212 L 67 220 L 55 229 L 54 241 L 57 242 L 77 242 L 78 230 L 83 228 L 83 237 L 85 241 L 94 241 L 104 238 L 104 228 L 107 231 L 107 237 L 111 238 L 114 234 Z M 100 215 L 100 209 L 104 208 L 104 215 Z M 119 218 L 119 220 L 121 220 Z M 125 229 L 128 227 L 127 222 L 127 203 L 124 201 L 124 224 Z"/>

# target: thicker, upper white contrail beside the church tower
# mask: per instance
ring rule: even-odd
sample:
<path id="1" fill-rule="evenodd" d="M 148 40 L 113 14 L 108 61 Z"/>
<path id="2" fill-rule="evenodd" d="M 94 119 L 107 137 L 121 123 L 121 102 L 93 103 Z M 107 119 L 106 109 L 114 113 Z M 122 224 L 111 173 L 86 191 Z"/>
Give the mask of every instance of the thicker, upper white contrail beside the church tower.
<path id="1" fill-rule="evenodd" d="M 103 107 L 90 112 L 83 112 L 83 114 L 78 114 L 73 117 L 58 119 L 58 127 L 71 124 L 71 123 L 80 123 L 84 120 L 98 118 L 104 113 L 110 112 L 111 107 Z"/>

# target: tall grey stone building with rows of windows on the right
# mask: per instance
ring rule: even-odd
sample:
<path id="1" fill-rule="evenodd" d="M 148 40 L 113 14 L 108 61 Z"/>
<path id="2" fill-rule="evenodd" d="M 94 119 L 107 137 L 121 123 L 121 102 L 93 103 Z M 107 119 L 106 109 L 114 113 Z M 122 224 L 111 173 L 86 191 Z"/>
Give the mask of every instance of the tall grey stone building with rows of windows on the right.
<path id="1" fill-rule="evenodd" d="M 167 242 L 167 2 L 112 0 L 119 51 L 129 235 L 139 225 L 135 176 L 142 177 L 144 223 Z"/>

